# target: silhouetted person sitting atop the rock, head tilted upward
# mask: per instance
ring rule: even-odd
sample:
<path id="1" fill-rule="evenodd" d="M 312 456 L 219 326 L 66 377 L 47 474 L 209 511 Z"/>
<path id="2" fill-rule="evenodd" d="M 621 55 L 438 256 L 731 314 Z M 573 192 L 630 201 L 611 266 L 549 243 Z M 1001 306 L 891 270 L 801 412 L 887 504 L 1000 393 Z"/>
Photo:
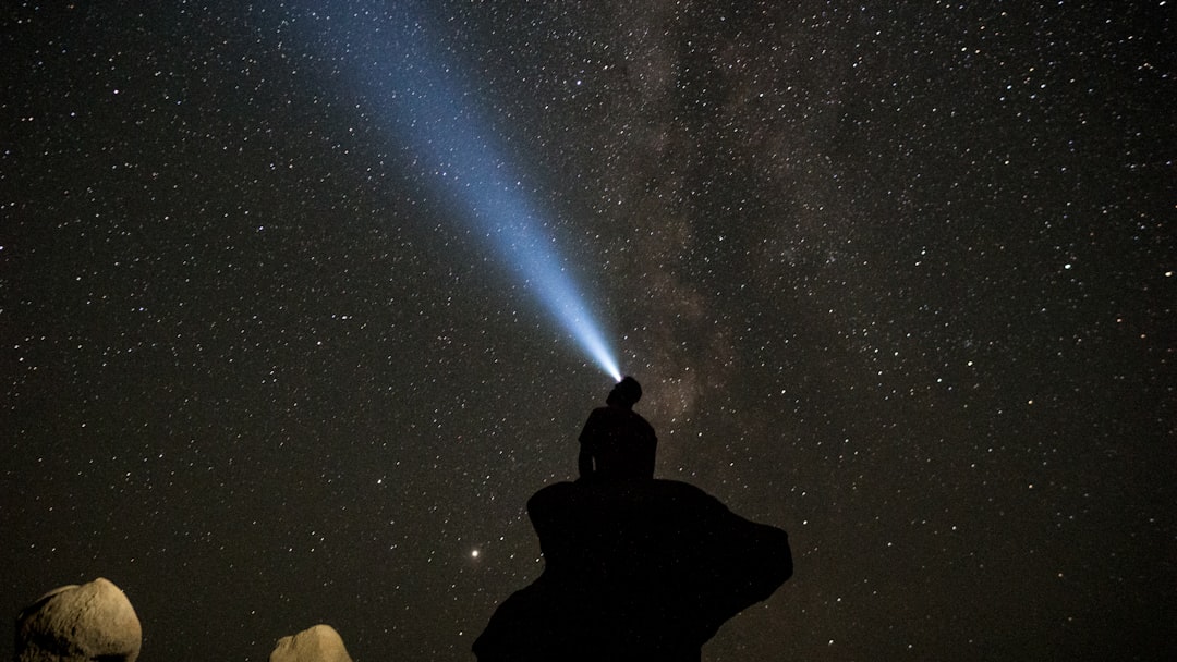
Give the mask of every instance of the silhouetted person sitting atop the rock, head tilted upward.
<path id="1" fill-rule="evenodd" d="M 581 479 L 652 479 L 658 437 L 654 428 L 633 410 L 641 399 L 641 385 L 625 377 L 588 415 L 580 432 L 577 467 Z"/>

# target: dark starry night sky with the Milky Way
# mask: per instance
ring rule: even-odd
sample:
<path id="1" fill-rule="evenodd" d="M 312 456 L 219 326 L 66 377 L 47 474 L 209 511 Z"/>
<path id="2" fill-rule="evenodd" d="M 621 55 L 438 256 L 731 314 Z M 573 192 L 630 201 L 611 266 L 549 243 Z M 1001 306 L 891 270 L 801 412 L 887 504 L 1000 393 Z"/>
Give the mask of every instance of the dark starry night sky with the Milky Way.
<path id="1" fill-rule="evenodd" d="M 9 617 L 473 660 L 612 380 L 390 113 L 452 95 L 658 476 L 790 533 L 704 660 L 1173 654 L 1172 2 L 13 5 Z"/>

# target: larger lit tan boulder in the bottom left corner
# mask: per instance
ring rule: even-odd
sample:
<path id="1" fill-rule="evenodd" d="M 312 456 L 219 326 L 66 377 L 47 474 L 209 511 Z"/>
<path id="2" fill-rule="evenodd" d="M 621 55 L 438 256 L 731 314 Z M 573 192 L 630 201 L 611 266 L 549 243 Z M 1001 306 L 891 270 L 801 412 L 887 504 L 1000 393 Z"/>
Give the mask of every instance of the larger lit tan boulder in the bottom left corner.
<path id="1" fill-rule="evenodd" d="M 54 589 L 16 617 L 16 662 L 134 662 L 142 628 L 108 580 Z"/>

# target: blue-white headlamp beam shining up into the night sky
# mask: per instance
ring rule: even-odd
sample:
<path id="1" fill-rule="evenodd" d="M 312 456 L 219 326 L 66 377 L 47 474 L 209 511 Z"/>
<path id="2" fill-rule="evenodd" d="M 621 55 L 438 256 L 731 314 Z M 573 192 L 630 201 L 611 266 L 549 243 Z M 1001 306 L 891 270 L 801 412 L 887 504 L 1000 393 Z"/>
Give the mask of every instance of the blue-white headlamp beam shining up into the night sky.
<path id="1" fill-rule="evenodd" d="M 357 7 L 355 4 L 350 4 Z M 353 91 L 375 108 L 377 127 L 406 143 L 433 170 L 434 193 L 457 199 L 473 229 L 614 380 L 613 353 L 556 250 L 519 178 L 487 138 L 490 122 L 434 52 L 418 2 L 365 4 L 328 15 L 308 9 L 314 39 Z"/>

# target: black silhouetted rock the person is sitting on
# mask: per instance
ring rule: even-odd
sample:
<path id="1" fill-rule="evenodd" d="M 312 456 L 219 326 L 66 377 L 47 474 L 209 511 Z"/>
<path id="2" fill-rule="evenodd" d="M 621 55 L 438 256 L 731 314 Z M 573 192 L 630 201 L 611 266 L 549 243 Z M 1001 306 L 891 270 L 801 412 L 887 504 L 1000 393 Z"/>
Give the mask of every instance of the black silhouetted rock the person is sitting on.
<path id="1" fill-rule="evenodd" d="M 546 564 L 474 642 L 480 662 L 698 661 L 792 575 L 785 531 L 686 483 L 556 483 L 527 502 Z"/>

